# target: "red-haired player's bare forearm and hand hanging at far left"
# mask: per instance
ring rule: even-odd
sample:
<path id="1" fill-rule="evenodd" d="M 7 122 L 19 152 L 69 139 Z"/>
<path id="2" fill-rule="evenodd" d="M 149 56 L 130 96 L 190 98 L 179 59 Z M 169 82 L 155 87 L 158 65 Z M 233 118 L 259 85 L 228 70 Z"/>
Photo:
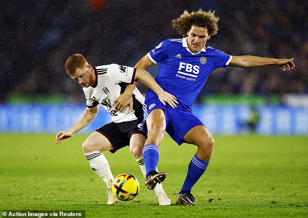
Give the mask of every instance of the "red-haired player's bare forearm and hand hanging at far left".
<path id="1" fill-rule="evenodd" d="M 75 132 L 78 132 L 82 128 L 89 125 L 99 111 L 99 105 L 95 106 L 94 108 L 86 108 L 83 114 L 80 116 L 79 120 L 72 125 L 68 130 L 60 131 L 55 137 L 55 143 L 62 143 L 62 140 L 68 139 L 69 137 L 73 136 Z"/>

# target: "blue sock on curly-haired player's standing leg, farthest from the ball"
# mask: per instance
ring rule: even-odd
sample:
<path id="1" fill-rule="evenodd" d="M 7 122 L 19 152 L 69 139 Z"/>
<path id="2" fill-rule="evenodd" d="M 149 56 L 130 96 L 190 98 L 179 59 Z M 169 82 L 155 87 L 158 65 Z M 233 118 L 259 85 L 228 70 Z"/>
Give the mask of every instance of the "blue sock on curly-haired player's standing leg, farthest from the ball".
<path id="1" fill-rule="evenodd" d="M 208 166 L 208 162 L 194 155 L 188 165 L 188 172 L 180 192 L 191 190 Z"/>

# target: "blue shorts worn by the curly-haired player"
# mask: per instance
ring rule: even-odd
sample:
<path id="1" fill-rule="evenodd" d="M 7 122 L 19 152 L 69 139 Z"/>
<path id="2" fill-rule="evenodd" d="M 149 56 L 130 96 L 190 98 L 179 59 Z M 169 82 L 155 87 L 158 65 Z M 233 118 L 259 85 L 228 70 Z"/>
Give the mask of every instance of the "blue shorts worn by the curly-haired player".
<path id="1" fill-rule="evenodd" d="M 146 98 L 143 105 L 142 124 L 146 132 L 148 132 L 146 119 L 154 109 L 164 110 L 166 117 L 166 132 L 178 145 L 185 142 L 183 141 L 183 138 L 191 128 L 197 125 L 204 125 L 195 115 L 193 115 L 192 111 L 183 109 L 180 105 L 177 105 L 177 108 L 175 109 L 172 109 L 168 104 L 164 106 L 156 96 L 150 99 Z"/>

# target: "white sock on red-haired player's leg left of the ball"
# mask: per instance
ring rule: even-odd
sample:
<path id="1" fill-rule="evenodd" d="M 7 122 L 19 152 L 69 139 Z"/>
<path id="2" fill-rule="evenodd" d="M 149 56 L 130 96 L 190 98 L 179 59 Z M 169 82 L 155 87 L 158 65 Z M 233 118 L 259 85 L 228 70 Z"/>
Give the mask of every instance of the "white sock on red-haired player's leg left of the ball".
<path id="1" fill-rule="evenodd" d="M 90 162 L 92 170 L 103 179 L 107 188 L 111 188 L 114 177 L 109 167 L 106 157 L 100 151 L 94 151 L 85 154 L 86 159 Z"/>

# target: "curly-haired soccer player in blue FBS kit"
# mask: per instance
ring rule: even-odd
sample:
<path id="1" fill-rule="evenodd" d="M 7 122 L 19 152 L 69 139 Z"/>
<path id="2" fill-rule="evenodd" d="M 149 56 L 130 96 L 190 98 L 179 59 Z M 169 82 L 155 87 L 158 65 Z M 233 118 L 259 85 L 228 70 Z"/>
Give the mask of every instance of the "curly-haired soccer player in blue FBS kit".
<path id="1" fill-rule="evenodd" d="M 172 24 L 185 38 L 162 41 L 135 66 L 146 69 L 160 62 L 155 80 L 179 102 L 177 107 L 172 109 L 169 105 L 162 105 L 151 89 L 146 94 L 143 105 L 143 124 L 148 131 L 143 148 L 147 173 L 145 187 L 148 190 L 154 189 L 157 183 L 163 182 L 167 177 L 165 172 L 155 171 L 159 159 L 158 146 L 165 131 L 179 145 L 185 142 L 198 147 L 188 165 L 186 179 L 177 196 L 178 204 L 196 204 L 191 189 L 205 172 L 214 147 L 212 135 L 191 109 L 210 73 L 226 66 L 250 68 L 274 65 L 282 67 L 284 71 L 295 67 L 292 58 L 231 56 L 212 47 L 205 47 L 206 41 L 218 31 L 218 20 L 215 11 L 184 11 L 180 17 L 172 20 Z M 125 93 L 128 94 L 131 88 L 127 88 Z"/>

